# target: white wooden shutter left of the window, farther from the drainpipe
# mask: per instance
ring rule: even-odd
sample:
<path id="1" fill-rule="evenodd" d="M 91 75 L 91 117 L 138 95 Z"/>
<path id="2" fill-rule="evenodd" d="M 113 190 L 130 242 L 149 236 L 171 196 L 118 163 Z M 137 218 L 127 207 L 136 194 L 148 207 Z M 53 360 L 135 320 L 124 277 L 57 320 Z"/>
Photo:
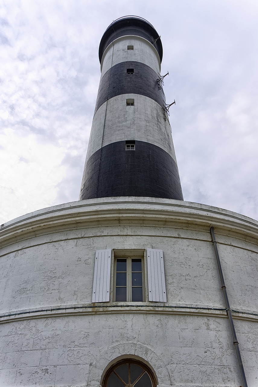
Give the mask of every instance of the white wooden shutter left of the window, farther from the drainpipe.
<path id="1" fill-rule="evenodd" d="M 109 301 L 111 248 L 97 250 L 95 255 L 92 302 Z"/>

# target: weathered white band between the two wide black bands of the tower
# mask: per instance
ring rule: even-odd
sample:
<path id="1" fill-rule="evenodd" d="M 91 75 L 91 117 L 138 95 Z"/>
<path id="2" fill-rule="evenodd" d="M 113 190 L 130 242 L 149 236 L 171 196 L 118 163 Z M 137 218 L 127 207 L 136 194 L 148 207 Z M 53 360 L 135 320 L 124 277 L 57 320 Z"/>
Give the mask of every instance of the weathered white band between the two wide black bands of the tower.
<path id="1" fill-rule="evenodd" d="M 130 98 L 134 99 L 134 106 L 126 106 L 126 99 Z M 102 146 L 122 140 L 150 142 L 176 162 L 169 121 L 163 119 L 163 109 L 151 98 L 122 94 L 102 104 L 93 117 L 86 162 Z"/>

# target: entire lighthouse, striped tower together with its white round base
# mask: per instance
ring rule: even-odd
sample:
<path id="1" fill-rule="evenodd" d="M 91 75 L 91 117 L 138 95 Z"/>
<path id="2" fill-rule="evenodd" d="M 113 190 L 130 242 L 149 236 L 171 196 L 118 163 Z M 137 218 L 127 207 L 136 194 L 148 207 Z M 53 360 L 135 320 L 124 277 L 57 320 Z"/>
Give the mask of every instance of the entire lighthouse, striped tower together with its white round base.
<path id="1" fill-rule="evenodd" d="M 80 200 L 0 227 L 0 386 L 257 387 L 258 222 L 183 200 L 154 27 L 99 57 Z"/>

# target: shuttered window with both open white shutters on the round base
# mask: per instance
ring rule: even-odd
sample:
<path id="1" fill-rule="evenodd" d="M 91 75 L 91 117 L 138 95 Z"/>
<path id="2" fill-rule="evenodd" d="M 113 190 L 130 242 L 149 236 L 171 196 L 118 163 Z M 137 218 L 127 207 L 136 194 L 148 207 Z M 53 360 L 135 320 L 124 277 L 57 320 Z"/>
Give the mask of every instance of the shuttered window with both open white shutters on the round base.
<path id="1" fill-rule="evenodd" d="M 109 302 L 110 293 L 113 301 L 166 302 L 162 250 L 97 250 L 94 261 L 92 303 Z"/>

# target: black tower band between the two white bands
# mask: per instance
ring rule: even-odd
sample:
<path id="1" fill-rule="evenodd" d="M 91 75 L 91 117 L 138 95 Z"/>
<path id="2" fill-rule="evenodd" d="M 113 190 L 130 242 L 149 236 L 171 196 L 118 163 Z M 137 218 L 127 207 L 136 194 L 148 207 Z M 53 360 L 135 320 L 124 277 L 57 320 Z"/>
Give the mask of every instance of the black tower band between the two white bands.
<path id="1" fill-rule="evenodd" d="M 127 74 L 127 69 L 133 69 L 133 74 Z M 163 106 L 164 92 L 159 89 L 157 78 L 158 74 L 144 63 L 117 63 L 105 72 L 100 81 L 95 112 L 107 99 L 131 93 L 152 98 Z"/>

